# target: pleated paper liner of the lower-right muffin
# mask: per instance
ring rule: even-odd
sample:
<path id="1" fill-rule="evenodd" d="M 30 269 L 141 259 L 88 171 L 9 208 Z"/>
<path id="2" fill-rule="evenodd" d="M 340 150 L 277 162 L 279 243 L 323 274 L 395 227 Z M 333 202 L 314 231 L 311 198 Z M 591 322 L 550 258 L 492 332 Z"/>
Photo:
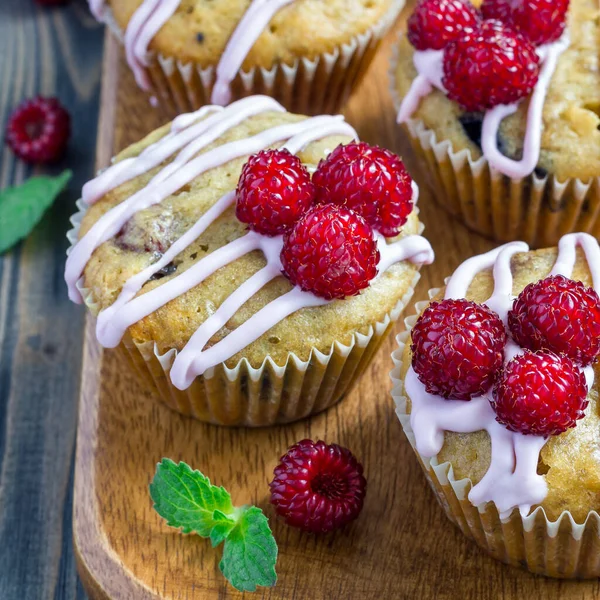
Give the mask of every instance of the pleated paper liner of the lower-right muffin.
<path id="1" fill-rule="evenodd" d="M 429 298 L 439 291 L 430 290 Z M 391 373 L 392 396 L 404 433 L 447 517 L 488 554 L 507 564 L 548 577 L 600 577 L 600 516 L 597 512 L 591 511 L 584 523 L 577 523 L 568 511 L 551 521 L 544 509 L 538 507 L 526 517 L 515 509 L 503 520 L 494 503 L 471 504 L 468 494 L 472 482 L 468 478 L 456 479 L 450 462 L 440 463 L 437 456 L 428 458 L 419 454 L 410 426 L 402 372 L 410 330 L 428 304 L 425 301 L 415 305 L 416 315 L 405 319 L 406 331 L 396 338 L 398 348 L 392 354 L 395 365 Z"/>

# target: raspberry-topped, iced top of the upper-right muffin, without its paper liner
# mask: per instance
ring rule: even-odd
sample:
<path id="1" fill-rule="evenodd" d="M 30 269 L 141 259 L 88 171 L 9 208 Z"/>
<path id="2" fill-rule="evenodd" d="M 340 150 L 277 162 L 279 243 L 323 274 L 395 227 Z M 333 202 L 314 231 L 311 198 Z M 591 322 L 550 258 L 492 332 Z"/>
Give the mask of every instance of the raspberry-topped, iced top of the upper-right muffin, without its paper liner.
<path id="1" fill-rule="evenodd" d="M 477 4 L 417 4 L 394 73 L 399 120 L 422 121 L 455 152 L 486 156 L 510 177 L 535 169 L 561 181 L 600 175 L 598 3 Z M 536 89 L 540 106 L 532 111 Z M 493 109 L 496 118 L 489 116 Z M 533 130 L 540 134 L 536 144 Z"/>

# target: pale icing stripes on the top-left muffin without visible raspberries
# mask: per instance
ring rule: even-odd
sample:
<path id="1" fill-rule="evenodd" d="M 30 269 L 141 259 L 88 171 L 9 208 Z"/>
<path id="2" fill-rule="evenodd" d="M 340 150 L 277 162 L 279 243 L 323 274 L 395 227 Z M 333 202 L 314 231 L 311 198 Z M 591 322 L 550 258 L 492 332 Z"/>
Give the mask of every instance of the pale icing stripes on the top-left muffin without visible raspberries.
<path id="1" fill-rule="evenodd" d="M 102 20 L 106 0 L 88 0 L 92 14 Z M 211 102 L 225 106 L 231 101 L 231 82 L 246 56 L 273 16 L 294 0 L 252 0 L 250 7 L 229 38 L 216 68 L 216 80 Z M 181 0 L 143 0 L 125 31 L 125 55 L 136 83 L 150 90 L 146 71 L 149 65 L 148 46 L 158 31 L 175 14 Z M 156 100 L 156 99 L 155 99 Z M 154 104 L 153 104 L 154 105 Z"/>

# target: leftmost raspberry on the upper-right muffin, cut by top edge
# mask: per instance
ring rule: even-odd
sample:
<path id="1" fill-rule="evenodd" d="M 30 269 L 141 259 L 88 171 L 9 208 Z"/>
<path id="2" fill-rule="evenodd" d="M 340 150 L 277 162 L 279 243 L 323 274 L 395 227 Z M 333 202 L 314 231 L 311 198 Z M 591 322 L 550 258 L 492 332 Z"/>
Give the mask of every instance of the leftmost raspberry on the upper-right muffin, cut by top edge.
<path id="1" fill-rule="evenodd" d="M 420 0 L 408 19 L 408 39 L 417 50 L 441 50 L 478 22 L 479 13 L 464 0 Z"/>

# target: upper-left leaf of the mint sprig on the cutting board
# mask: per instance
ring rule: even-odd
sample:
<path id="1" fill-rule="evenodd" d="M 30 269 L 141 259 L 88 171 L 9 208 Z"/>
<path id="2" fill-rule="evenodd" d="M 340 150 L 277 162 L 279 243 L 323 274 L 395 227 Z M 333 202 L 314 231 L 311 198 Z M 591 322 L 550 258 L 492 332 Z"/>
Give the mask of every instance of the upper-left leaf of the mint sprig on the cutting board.
<path id="1" fill-rule="evenodd" d="M 168 525 L 202 537 L 209 537 L 213 527 L 223 521 L 221 515 L 234 513 L 231 496 L 222 487 L 212 485 L 208 477 L 184 462 L 175 464 L 168 458 L 156 468 L 150 496 Z"/>

